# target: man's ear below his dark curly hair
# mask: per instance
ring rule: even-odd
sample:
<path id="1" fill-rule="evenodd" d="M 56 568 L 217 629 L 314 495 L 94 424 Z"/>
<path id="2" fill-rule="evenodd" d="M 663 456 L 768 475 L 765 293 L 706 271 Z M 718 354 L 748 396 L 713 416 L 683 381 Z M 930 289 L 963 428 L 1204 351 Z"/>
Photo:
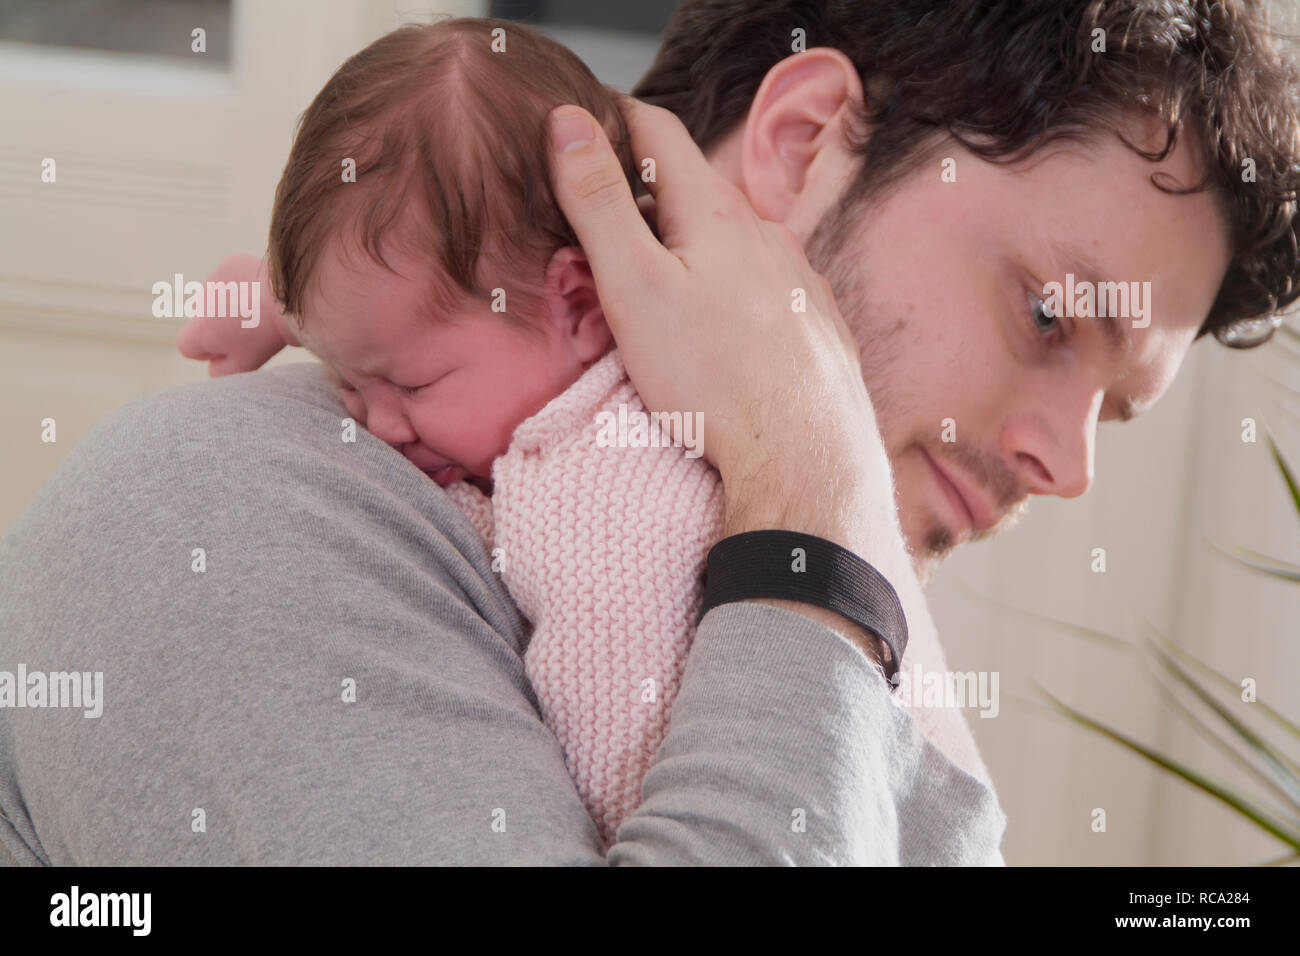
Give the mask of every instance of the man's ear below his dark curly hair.
<path id="1" fill-rule="evenodd" d="M 845 126 L 861 103 L 862 78 L 838 49 L 814 47 L 767 72 L 741 142 L 741 179 L 759 216 L 786 222 L 810 187 L 826 202 L 838 195 L 852 169 Z"/>

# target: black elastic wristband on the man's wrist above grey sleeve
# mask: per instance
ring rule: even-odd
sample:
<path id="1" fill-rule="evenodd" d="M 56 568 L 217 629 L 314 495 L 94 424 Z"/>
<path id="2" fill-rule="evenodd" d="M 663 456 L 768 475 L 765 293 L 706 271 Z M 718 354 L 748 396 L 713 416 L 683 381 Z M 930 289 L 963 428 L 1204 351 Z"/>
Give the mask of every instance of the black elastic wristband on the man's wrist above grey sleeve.
<path id="1" fill-rule="evenodd" d="M 796 553 L 802 549 L 802 555 Z M 888 648 L 885 679 L 897 684 L 907 646 L 907 620 L 893 585 L 871 564 L 833 541 L 797 531 L 746 531 L 708 551 L 703 619 L 732 601 L 772 597 L 826 607 L 871 631 Z"/>

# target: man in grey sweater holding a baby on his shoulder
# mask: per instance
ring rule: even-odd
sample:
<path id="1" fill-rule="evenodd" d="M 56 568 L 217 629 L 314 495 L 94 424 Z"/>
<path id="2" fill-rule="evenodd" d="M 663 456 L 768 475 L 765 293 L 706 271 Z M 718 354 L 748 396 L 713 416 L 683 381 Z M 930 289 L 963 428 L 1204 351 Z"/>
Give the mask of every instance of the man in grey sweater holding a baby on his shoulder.
<path id="1" fill-rule="evenodd" d="M 598 135 L 555 156 L 556 195 L 647 405 L 731 420 L 716 460 L 728 532 L 837 541 L 923 627 L 888 527 L 893 488 L 924 574 L 1026 494 L 1083 493 L 1097 420 L 1154 401 L 1199 330 L 1295 297 L 1295 79 L 1253 59 L 1253 21 L 1222 5 L 1187 22 L 1112 5 L 1100 27 L 1083 4 L 753 5 L 684 5 L 642 87 L 680 100 L 718 170 L 656 114 L 640 122 L 659 151 L 667 251 L 647 245 Z M 1112 60 L 1086 60 L 1093 29 Z M 785 57 L 796 30 L 807 49 Z M 1166 79 L 1174 99 L 1157 95 Z M 1150 142 L 1126 109 L 1144 95 L 1186 107 L 1158 165 L 1109 135 Z M 1036 146 L 1066 120 L 1093 135 L 1015 166 L 976 155 Z M 1239 159 L 1254 160 L 1253 189 L 1234 179 Z M 1180 185 L 1209 173 L 1219 193 L 1165 195 L 1153 170 Z M 854 349 L 737 187 L 807 243 Z M 1067 273 L 1150 282 L 1153 307 L 1113 325 L 1057 313 L 1049 284 Z M 790 317 L 796 289 L 807 317 Z M 673 319 L 677 334 L 655 324 Z M 754 324 L 764 334 L 727 334 Z M 740 358 L 719 375 L 656 341 Z M 710 377 L 728 388 L 710 393 Z M 320 377 L 294 369 L 150 397 L 96 429 L 0 544 L 6 658 L 109 678 L 96 719 L 0 710 L 14 861 L 1000 860 L 991 790 L 889 705 L 871 636 L 755 601 L 701 623 L 645 804 L 601 860 L 472 529 L 382 442 L 343 451 L 337 423 Z"/>

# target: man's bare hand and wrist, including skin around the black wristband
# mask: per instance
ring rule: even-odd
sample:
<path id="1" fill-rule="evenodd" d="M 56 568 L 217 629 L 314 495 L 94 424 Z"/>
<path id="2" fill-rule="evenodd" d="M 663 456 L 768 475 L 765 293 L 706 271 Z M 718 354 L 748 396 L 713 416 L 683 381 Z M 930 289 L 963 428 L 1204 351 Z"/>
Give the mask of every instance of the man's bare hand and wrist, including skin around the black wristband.
<path id="1" fill-rule="evenodd" d="M 655 159 L 654 217 L 633 200 L 601 126 L 551 113 L 556 199 L 592 263 L 606 320 L 651 411 L 702 412 L 725 535 L 786 528 L 848 548 L 928 623 L 894 509 L 893 475 L 857 343 L 797 238 L 767 222 L 664 109 L 624 101 L 633 155 Z M 840 615 L 798 609 L 888 652 Z"/>

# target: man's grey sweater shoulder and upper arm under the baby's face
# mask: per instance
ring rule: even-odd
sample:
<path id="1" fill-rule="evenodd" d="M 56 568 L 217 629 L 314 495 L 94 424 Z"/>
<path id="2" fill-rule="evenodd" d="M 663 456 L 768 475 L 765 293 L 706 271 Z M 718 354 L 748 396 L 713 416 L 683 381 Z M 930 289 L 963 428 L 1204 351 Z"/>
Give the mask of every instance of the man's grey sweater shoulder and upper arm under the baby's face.
<path id="1" fill-rule="evenodd" d="M 0 661 L 103 688 L 94 719 L 0 708 L 0 861 L 436 862 L 468 852 L 463 779 L 526 803 L 554 737 L 519 611 L 442 489 L 343 419 L 311 367 L 148 395 L 0 537 Z"/>

